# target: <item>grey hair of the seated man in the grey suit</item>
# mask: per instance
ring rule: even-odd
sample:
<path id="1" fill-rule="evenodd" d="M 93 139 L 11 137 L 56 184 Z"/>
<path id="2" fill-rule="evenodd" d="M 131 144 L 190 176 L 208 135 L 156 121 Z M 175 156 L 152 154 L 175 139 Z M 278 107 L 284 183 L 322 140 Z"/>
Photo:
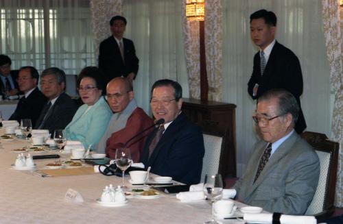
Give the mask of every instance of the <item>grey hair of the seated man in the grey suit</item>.
<path id="1" fill-rule="evenodd" d="M 295 125 L 296 121 L 298 120 L 300 109 L 298 102 L 292 93 L 284 89 L 268 90 L 267 92 L 263 93 L 261 97 L 259 97 L 258 102 L 268 101 L 275 98 L 278 99 L 279 102 L 277 107 L 278 111 L 276 111 L 276 114 L 279 116 L 284 116 L 288 113 L 292 114 L 293 124 Z"/>

